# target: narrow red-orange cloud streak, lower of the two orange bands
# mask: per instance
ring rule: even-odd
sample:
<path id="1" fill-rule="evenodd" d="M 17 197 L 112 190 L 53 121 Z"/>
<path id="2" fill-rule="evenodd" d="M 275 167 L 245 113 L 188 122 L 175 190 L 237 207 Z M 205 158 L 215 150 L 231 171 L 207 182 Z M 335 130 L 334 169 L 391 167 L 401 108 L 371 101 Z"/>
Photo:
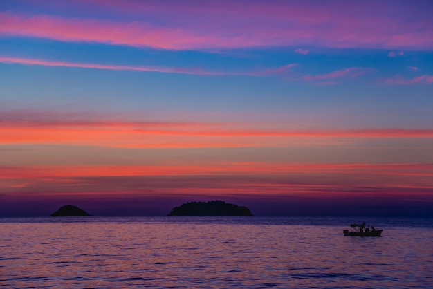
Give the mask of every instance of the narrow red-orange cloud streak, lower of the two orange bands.
<path id="1" fill-rule="evenodd" d="M 432 164 L 212 162 L 203 165 L 80 165 L 0 167 L 0 179 L 239 174 L 371 174 L 433 176 Z M 275 184 L 277 185 L 277 184 Z"/>

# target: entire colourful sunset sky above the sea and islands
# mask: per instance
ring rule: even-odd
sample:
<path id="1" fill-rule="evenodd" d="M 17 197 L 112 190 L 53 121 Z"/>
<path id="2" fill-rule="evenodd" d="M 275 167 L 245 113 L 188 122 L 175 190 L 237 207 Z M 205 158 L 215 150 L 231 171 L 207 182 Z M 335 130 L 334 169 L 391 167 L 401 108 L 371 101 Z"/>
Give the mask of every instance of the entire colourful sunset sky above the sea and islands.
<path id="1" fill-rule="evenodd" d="M 433 216 L 433 2 L 0 2 L 0 216 Z"/>

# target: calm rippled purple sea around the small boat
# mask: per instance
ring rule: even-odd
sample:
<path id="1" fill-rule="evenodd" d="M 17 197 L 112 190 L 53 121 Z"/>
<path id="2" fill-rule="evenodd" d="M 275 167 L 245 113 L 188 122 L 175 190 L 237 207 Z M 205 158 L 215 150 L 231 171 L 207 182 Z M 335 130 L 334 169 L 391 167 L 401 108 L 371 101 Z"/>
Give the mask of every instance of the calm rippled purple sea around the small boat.
<path id="1" fill-rule="evenodd" d="M 366 221 L 380 238 L 344 237 Z M 433 288 L 433 220 L 0 218 L 3 288 Z"/>

